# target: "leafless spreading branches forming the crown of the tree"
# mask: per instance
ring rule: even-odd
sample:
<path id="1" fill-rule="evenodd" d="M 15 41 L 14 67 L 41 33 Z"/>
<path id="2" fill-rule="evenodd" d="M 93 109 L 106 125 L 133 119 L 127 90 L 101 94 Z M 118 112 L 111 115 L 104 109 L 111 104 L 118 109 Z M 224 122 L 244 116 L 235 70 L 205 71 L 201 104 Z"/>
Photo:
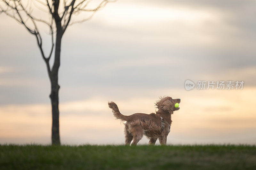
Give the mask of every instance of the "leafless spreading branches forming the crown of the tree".
<path id="1" fill-rule="evenodd" d="M 62 0 L 63 4 L 61 3 L 61 5 L 60 5 L 60 0 L 45 0 L 45 3 L 43 2 L 43 0 L 28 0 L 28 1 L 0 0 L 0 1 L 4 3 L 4 6 L 3 5 L 1 6 L 0 4 L 0 14 L 5 13 L 7 16 L 14 18 L 18 23 L 22 24 L 28 30 L 28 32 L 30 32 L 36 37 L 37 46 L 40 49 L 42 58 L 46 63 L 47 71 L 50 76 L 50 74 L 53 71 L 54 72 L 56 72 L 56 70 L 58 71 L 58 68 L 60 65 L 60 57 L 56 57 L 56 56 L 60 56 L 60 54 L 56 55 L 56 48 L 55 48 L 54 64 L 52 66 L 52 69 L 50 68 L 49 60 L 52 56 L 54 46 L 58 46 L 57 51 L 59 53 L 60 45 L 61 45 L 60 41 L 64 32 L 67 30 L 67 27 L 69 25 L 73 25 L 75 23 L 80 23 L 80 22 L 84 22 L 91 19 L 96 11 L 103 8 L 108 2 L 114 2 L 116 0 L 102 0 L 100 4 L 93 9 L 86 8 L 88 4 L 93 0 L 69 0 L 69 1 Z M 27 4 L 23 5 L 24 3 L 23 1 L 27 2 Z M 38 3 L 40 4 L 40 6 L 38 6 Z M 41 11 L 45 11 L 45 9 L 43 9 L 42 7 L 45 7 L 46 9 L 48 8 L 48 11 L 46 10 L 45 12 L 49 13 L 49 21 L 33 16 L 32 5 Z M 63 7 L 63 8 L 60 9 L 60 7 L 61 8 Z M 82 12 L 82 11 L 91 12 L 92 14 L 89 17 L 84 18 L 82 20 L 71 22 L 73 14 L 78 14 L 79 12 Z M 37 25 L 39 22 L 47 25 L 50 29 L 51 49 L 48 56 L 45 56 L 44 50 L 42 47 L 42 37 Z M 56 40 L 56 42 L 54 42 L 55 31 L 56 31 L 56 39 L 58 39 Z"/>

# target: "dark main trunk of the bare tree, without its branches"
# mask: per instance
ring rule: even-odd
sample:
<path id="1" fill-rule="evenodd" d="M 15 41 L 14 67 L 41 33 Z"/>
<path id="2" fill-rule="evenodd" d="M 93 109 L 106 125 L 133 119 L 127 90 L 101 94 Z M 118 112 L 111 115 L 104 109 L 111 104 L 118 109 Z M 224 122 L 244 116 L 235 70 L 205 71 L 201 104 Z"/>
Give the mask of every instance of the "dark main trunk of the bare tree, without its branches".
<path id="1" fill-rule="evenodd" d="M 52 71 L 50 74 L 51 80 L 51 102 L 52 102 L 52 145 L 60 145 L 60 124 L 59 124 L 59 89 L 58 72 L 60 67 L 60 47 L 62 38 L 61 25 L 57 25 L 55 58 Z"/>

